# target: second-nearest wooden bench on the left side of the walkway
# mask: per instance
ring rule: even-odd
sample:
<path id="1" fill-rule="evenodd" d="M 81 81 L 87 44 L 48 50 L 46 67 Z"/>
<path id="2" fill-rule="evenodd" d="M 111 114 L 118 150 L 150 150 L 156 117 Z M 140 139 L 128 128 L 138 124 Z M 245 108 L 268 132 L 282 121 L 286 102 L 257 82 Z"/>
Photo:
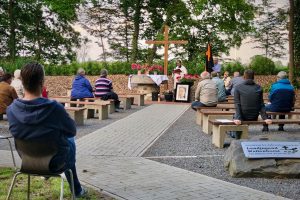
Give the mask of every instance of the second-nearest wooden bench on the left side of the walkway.
<path id="1" fill-rule="evenodd" d="M 93 118 L 95 114 L 95 110 L 98 111 L 98 118 L 99 120 L 108 119 L 108 105 L 110 102 L 85 102 L 85 101 L 65 101 L 65 100 L 59 100 L 58 102 L 66 104 L 76 104 L 76 105 L 82 105 L 87 110 L 91 110 L 93 112 L 87 112 L 87 115 L 85 118 Z"/>

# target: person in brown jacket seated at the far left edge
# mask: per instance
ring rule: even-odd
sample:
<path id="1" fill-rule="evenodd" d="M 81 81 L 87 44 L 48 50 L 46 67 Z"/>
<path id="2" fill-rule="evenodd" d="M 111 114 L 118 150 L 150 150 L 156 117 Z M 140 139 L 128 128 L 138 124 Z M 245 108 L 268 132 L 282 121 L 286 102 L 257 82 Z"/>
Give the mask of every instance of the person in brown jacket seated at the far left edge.
<path id="1" fill-rule="evenodd" d="M 6 108 L 18 98 L 16 90 L 10 84 L 12 82 L 11 74 L 4 74 L 0 82 L 0 114 L 6 113 Z"/>

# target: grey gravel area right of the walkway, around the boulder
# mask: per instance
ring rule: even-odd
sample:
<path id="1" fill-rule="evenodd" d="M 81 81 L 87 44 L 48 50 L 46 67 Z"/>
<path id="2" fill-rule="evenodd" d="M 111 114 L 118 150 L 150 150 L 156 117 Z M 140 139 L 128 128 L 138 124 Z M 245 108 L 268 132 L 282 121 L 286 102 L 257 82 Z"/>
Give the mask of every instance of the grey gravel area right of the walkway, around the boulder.
<path id="1" fill-rule="evenodd" d="M 249 136 L 261 135 L 261 129 L 261 126 L 251 126 Z M 285 126 L 285 132 L 278 132 L 276 125 L 271 125 L 269 129 L 268 134 L 294 135 L 300 132 L 299 126 L 293 125 Z M 201 132 L 195 123 L 195 112 L 190 109 L 143 156 L 227 182 L 300 199 L 300 179 L 232 178 L 224 168 L 225 151 L 211 144 L 211 136 Z"/>

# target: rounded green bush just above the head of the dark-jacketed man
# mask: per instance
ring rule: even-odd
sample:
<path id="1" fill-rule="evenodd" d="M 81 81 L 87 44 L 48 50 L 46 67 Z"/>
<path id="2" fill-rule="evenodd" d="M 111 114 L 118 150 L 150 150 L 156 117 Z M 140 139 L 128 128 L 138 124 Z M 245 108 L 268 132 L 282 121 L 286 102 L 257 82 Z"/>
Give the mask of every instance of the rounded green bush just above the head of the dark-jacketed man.
<path id="1" fill-rule="evenodd" d="M 275 73 L 274 62 L 261 55 L 252 57 L 249 67 L 255 72 L 255 74 L 271 75 Z"/>

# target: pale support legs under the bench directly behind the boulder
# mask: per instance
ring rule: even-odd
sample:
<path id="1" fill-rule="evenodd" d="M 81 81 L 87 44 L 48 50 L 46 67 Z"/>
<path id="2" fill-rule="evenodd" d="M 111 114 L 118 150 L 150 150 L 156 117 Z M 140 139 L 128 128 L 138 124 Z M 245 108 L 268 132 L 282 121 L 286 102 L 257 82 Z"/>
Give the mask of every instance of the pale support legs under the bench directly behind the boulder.
<path id="1" fill-rule="evenodd" d="M 213 125 L 213 145 L 223 148 L 226 131 L 242 131 L 241 139 L 248 138 L 248 125 Z"/>

